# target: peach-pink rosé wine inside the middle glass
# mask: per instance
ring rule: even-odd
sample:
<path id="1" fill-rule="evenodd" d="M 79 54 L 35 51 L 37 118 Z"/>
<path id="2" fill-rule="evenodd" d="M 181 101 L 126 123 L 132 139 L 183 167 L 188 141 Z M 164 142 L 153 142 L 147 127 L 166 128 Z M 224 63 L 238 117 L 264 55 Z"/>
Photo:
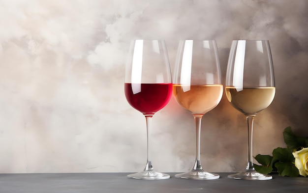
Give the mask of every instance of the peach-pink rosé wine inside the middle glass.
<path id="1" fill-rule="evenodd" d="M 222 92 L 222 84 L 173 85 L 173 94 L 177 102 L 193 114 L 205 114 L 214 109 L 220 102 Z"/>

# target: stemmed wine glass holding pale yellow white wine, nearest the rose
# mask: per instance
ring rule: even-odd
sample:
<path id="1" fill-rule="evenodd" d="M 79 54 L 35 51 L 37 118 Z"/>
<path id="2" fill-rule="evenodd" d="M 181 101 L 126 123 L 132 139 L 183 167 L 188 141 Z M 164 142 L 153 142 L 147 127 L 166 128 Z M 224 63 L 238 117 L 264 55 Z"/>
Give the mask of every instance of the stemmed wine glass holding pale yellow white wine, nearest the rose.
<path id="1" fill-rule="evenodd" d="M 226 96 L 231 105 L 244 113 L 248 123 L 248 161 L 245 171 L 228 178 L 270 180 L 257 172 L 252 160 L 253 118 L 267 108 L 275 96 L 273 61 L 268 40 L 234 40 L 228 59 Z"/>

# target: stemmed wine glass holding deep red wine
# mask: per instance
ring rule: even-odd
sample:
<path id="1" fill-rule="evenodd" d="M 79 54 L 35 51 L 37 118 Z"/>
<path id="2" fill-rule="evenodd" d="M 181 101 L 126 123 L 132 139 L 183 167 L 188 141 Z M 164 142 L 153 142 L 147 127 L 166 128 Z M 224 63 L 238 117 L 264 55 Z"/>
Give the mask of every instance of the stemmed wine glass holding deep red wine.
<path id="1" fill-rule="evenodd" d="M 167 105 L 172 96 L 172 78 L 164 40 L 133 40 L 125 70 L 124 83 L 127 102 L 146 117 L 147 164 L 143 171 L 129 178 L 157 180 L 170 175 L 154 171 L 151 162 L 151 120 Z"/>

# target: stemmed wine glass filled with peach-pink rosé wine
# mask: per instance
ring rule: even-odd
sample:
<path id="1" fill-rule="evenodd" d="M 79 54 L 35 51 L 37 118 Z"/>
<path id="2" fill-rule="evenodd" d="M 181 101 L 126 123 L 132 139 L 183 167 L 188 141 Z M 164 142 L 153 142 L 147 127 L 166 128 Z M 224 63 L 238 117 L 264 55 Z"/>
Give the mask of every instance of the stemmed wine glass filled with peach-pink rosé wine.
<path id="1" fill-rule="evenodd" d="M 217 179 L 219 175 L 204 171 L 200 162 L 201 119 L 218 105 L 223 93 L 216 41 L 180 41 L 173 78 L 175 99 L 182 108 L 192 113 L 196 126 L 196 159 L 193 168 L 175 177 Z"/>

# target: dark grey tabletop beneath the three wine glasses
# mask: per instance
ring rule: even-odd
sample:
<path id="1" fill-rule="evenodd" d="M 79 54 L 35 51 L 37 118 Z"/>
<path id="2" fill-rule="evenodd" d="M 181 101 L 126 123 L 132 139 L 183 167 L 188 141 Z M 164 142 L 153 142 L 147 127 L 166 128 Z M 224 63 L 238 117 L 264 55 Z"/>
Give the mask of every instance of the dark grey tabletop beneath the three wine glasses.
<path id="1" fill-rule="evenodd" d="M 136 180 L 128 173 L 28 173 L 0 174 L 0 193 L 308 193 L 308 177 L 272 180 Z"/>

